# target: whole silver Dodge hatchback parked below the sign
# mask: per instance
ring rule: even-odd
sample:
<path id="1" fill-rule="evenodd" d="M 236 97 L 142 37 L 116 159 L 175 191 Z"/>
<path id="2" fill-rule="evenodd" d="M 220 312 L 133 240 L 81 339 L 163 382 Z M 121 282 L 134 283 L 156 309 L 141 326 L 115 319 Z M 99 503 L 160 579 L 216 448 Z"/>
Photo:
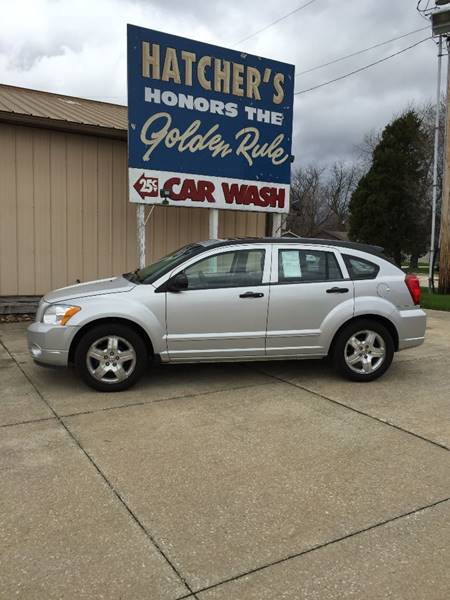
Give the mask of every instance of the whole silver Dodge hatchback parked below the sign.
<path id="1" fill-rule="evenodd" d="M 252 238 L 189 244 L 121 277 L 47 294 L 28 329 L 36 362 L 75 365 L 100 391 L 152 361 L 330 356 L 354 381 L 424 341 L 415 275 L 363 244 Z"/>

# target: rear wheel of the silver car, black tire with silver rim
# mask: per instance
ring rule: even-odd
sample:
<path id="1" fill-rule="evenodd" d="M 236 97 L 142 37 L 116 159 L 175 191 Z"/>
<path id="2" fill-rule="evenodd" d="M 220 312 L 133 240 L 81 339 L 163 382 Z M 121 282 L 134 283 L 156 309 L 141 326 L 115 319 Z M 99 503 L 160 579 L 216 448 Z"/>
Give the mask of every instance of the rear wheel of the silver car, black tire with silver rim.
<path id="1" fill-rule="evenodd" d="M 378 379 L 388 370 L 393 357 L 390 332 L 372 319 L 353 321 L 338 333 L 334 344 L 334 367 L 351 381 Z"/>

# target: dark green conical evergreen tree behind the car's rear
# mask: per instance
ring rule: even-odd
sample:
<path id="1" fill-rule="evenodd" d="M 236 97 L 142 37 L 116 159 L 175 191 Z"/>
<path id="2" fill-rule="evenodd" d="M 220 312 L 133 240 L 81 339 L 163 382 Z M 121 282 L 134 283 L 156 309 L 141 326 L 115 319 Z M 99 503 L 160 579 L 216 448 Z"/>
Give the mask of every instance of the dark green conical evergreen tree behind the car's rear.
<path id="1" fill-rule="evenodd" d="M 350 239 L 383 246 L 398 265 L 402 254 L 421 256 L 427 248 L 425 147 L 414 110 L 394 119 L 384 129 L 371 167 L 350 201 Z"/>

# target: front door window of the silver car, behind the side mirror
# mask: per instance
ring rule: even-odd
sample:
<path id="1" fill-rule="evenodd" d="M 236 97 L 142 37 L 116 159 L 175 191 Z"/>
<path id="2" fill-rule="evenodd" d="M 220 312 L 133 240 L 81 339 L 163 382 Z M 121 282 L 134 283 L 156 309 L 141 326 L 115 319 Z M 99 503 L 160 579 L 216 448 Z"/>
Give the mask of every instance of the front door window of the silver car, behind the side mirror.
<path id="1" fill-rule="evenodd" d="M 235 250 L 199 260 L 185 269 L 188 290 L 260 285 L 265 250 Z"/>

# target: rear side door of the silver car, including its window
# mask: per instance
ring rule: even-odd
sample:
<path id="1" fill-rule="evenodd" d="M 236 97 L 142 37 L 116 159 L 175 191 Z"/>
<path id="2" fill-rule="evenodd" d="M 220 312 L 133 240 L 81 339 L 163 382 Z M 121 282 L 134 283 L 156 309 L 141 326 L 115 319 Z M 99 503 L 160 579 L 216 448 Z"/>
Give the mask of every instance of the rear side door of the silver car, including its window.
<path id="1" fill-rule="evenodd" d="M 320 356 L 351 318 L 353 282 L 340 254 L 327 247 L 273 248 L 267 356 Z"/>

